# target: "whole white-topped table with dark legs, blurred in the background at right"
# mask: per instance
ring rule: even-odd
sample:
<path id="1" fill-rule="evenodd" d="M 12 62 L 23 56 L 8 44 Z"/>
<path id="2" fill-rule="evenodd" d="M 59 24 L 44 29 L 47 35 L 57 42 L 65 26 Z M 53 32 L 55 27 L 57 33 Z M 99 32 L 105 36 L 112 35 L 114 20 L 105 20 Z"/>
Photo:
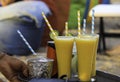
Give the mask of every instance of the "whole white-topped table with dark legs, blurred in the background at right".
<path id="1" fill-rule="evenodd" d="M 100 18 L 99 23 L 99 51 L 106 50 L 105 37 L 120 37 L 120 33 L 107 33 L 104 31 L 104 20 L 105 17 L 120 17 L 120 4 L 99 4 L 94 6 L 90 12 L 89 16 L 92 16 L 92 10 L 95 10 L 95 17 Z M 103 46 L 103 48 L 101 48 Z"/>

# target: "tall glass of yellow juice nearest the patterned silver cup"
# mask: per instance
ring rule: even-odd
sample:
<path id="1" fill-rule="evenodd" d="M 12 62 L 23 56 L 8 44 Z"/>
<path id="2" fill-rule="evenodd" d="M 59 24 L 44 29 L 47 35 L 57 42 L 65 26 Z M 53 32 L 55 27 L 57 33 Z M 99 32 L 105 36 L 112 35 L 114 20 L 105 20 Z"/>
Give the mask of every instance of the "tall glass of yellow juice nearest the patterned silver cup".
<path id="1" fill-rule="evenodd" d="M 74 37 L 57 36 L 54 41 L 58 63 L 58 76 L 67 75 L 67 77 L 70 78 Z"/>

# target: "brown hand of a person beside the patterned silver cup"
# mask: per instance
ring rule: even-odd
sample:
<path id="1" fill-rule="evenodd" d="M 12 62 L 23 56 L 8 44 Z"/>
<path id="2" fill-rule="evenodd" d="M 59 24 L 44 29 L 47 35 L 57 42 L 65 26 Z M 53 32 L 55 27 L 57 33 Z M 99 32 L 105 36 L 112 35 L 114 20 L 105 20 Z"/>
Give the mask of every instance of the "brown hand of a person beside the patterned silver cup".
<path id="1" fill-rule="evenodd" d="M 27 65 L 17 58 L 8 56 L 4 53 L 0 53 L 2 56 L 0 58 L 0 72 L 10 81 L 10 82 L 21 82 L 18 80 L 18 75 L 22 74 L 25 77 L 28 76 Z"/>

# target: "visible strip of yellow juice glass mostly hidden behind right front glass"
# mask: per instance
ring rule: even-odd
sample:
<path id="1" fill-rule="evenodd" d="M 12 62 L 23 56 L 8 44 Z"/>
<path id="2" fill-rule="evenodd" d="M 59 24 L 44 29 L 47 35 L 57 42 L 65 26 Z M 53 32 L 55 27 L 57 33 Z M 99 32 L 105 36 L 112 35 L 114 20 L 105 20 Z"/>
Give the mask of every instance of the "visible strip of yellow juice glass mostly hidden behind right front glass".
<path id="1" fill-rule="evenodd" d="M 99 35 L 94 34 L 93 37 L 95 37 L 96 44 L 95 44 L 93 63 L 92 63 L 92 77 L 95 77 L 96 76 L 96 55 L 97 55 Z"/>

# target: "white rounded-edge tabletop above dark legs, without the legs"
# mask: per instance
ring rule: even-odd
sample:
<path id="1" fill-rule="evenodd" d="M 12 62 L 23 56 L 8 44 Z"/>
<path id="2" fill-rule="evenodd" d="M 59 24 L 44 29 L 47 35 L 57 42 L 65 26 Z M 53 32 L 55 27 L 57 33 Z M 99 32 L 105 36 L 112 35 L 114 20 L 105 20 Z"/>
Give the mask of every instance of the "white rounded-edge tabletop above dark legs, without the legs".
<path id="1" fill-rule="evenodd" d="M 120 4 L 100 4 L 94 6 L 89 16 L 92 16 L 92 10 L 95 10 L 95 17 L 120 17 Z"/>

